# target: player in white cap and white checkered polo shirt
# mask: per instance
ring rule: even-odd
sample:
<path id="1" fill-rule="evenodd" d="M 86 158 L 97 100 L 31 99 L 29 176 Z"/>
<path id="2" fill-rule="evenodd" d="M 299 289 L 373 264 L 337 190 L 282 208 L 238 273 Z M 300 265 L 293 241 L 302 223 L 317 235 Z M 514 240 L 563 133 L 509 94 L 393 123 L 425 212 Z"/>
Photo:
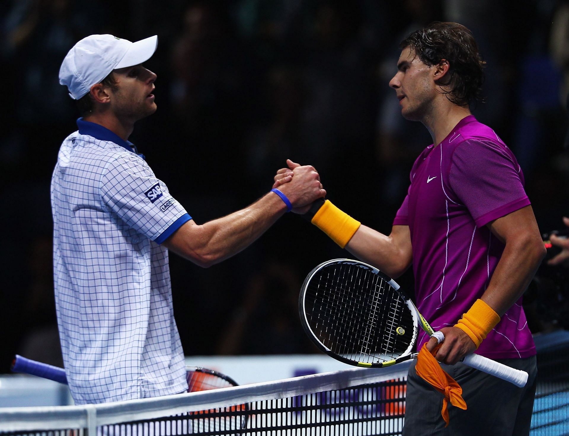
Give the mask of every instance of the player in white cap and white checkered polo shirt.
<path id="1" fill-rule="evenodd" d="M 290 183 L 245 209 L 194 222 L 128 140 L 134 123 L 156 111 L 156 74 L 142 63 L 157 44 L 156 36 L 131 43 L 91 35 L 60 69 L 83 113 L 51 184 L 57 321 L 76 404 L 184 392 L 168 250 L 208 267 L 325 195 L 315 169 L 298 167 Z"/>

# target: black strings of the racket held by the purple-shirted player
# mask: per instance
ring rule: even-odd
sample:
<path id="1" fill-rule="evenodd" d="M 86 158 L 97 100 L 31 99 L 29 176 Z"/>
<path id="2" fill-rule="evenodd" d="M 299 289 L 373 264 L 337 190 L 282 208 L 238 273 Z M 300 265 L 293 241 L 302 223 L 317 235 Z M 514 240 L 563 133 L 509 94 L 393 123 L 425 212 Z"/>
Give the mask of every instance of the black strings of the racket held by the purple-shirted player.
<path id="1" fill-rule="evenodd" d="M 403 319 L 407 306 L 384 277 L 350 266 L 325 268 L 312 280 L 317 285 L 308 286 L 305 304 L 312 308 L 307 310 L 311 328 L 326 347 L 345 358 L 392 360 L 409 346 L 401 333 L 402 325 L 413 323 L 410 315 Z"/>

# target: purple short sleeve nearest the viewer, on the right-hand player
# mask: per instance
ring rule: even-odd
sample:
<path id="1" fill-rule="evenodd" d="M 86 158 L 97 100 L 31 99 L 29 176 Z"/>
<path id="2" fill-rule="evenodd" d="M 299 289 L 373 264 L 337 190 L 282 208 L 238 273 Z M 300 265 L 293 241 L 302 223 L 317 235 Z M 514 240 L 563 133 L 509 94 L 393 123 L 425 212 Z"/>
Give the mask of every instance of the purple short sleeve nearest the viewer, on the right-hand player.
<path id="1" fill-rule="evenodd" d="M 490 140 L 467 139 L 459 144 L 448 181 L 478 227 L 530 204 L 516 158 Z"/>

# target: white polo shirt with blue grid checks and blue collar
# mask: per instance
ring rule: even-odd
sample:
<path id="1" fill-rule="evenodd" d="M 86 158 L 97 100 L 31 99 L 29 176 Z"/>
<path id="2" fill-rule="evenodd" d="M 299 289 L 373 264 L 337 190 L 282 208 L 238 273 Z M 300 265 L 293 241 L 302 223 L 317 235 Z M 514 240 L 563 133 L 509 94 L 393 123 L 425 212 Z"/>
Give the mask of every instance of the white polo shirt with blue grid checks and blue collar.
<path id="1" fill-rule="evenodd" d="M 77 120 L 51 182 L 53 277 L 76 404 L 183 392 L 168 250 L 191 217 L 131 143 Z"/>

